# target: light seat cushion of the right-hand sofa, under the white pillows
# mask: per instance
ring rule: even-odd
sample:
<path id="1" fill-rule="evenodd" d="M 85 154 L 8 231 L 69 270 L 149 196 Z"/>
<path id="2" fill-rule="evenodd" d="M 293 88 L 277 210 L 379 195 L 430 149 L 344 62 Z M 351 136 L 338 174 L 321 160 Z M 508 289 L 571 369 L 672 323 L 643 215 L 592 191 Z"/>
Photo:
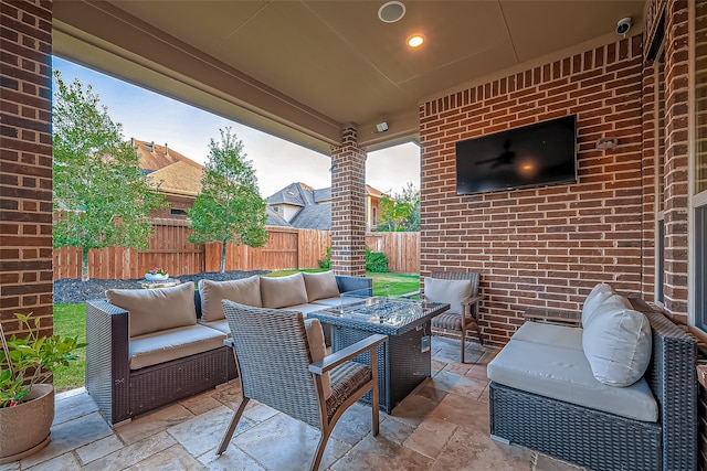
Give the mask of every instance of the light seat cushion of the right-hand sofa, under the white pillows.
<path id="1" fill-rule="evenodd" d="M 490 381 L 516 389 L 631 419 L 658 419 L 658 407 L 645 378 L 629 387 L 602 384 L 578 350 L 511 339 L 488 364 L 487 372 Z"/>

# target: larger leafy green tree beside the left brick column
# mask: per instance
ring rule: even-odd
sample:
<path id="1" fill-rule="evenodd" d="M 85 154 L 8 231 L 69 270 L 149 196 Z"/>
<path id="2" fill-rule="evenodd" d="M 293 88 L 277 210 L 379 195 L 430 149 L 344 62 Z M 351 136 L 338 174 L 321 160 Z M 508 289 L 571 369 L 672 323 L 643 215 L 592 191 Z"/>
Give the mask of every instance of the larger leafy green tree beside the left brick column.
<path id="1" fill-rule="evenodd" d="M 167 202 L 140 175 L 137 152 L 91 85 L 67 85 L 59 71 L 54 78 L 54 247 L 82 247 L 85 281 L 89 249 L 146 248 L 149 213 Z"/>

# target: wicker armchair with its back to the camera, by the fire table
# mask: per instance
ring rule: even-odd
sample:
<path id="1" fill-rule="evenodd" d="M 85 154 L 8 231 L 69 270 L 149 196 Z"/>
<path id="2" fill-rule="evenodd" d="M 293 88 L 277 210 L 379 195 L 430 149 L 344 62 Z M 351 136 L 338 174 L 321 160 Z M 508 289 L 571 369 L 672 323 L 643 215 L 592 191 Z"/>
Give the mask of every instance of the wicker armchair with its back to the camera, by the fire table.
<path id="1" fill-rule="evenodd" d="M 217 454 L 223 453 L 250 399 L 281 410 L 321 430 L 312 462 L 319 468 L 334 426 L 344 411 L 368 392 L 378 404 L 378 345 L 387 335 L 373 334 L 313 363 L 304 317 L 300 312 L 251 308 L 223 301 L 233 334 L 243 400 L 229 425 Z M 361 353 L 370 366 L 351 362 Z M 329 373 L 331 395 L 325 398 L 323 375 Z M 378 407 L 371 407 L 373 436 L 379 431 Z"/>

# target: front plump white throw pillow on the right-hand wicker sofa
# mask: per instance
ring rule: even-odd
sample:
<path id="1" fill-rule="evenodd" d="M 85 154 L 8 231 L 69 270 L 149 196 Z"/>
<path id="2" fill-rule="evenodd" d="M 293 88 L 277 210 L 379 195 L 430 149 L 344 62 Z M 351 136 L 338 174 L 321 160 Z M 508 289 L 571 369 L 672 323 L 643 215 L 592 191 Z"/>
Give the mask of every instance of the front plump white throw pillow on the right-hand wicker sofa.
<path id="1" fill-rule="evenodd" d="M 597 308 L 582 332 L 584 356 L 597 381 L 631 386 L 651 362 L 653 339 L 648 319 L 639 311 L 616 307 L 613 299 Z"/>

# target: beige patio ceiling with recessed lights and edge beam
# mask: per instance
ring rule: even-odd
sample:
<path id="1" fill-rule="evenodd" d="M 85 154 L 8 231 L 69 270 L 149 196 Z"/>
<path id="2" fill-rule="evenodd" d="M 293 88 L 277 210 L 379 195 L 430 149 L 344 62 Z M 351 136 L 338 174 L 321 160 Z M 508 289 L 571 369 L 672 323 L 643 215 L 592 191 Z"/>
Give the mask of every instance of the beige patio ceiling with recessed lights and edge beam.
<path id="1" fill-rule="evenodd" d="M 382 0 L 57 0 L 53 42 L 59 56 L 328 154 L 344 124 L 369 150 L 414 140 L 423 97 L 608 42 L 624 17 L 636 34 L 644 3 L 405 1 L 383 23 Z M 419 50 L 412 33 L 426 39 Z"/>

